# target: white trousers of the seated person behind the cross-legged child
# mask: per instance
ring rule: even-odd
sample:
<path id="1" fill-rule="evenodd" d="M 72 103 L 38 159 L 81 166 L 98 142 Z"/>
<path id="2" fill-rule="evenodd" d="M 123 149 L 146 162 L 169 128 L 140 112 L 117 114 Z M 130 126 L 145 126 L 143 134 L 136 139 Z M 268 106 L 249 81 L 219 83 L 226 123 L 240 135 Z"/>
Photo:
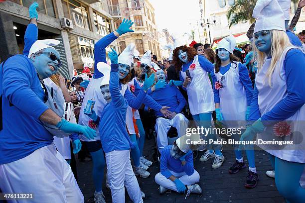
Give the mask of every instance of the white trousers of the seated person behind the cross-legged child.
<path id="1" fill-rule="evenodd" d="M 175 127 L 178 132 L 178 137 L 181 137 L 186 133 L 188 122 L 189 121 L 182 113 L 176 114 L 172 119 L 160 117 L 155 120 L 154 129 L 157 133 L 156 141 L 160 153 L 162 152 L 162 149 L 168 145 L 167 132 L 169 128 L 171 126 Z"/>

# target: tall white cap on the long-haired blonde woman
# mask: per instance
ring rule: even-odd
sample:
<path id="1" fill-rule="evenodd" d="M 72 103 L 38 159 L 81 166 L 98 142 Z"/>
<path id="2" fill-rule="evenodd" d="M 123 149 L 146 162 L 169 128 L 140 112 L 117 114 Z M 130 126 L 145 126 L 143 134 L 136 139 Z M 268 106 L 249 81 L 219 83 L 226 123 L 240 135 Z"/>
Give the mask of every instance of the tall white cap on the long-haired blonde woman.
<path id="1" fill-rule="evenodd" d="M 256 19 L 254 33 L 263 30 L 286 31 L 284 12 L 277 0 L 258 0 L 252 16 Z"/>

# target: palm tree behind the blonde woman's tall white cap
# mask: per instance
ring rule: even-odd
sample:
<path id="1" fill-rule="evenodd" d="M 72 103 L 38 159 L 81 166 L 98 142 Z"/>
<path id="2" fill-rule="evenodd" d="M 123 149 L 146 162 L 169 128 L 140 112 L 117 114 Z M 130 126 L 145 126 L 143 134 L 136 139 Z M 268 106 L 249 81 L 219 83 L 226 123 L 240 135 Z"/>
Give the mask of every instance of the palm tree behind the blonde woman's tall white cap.
<path id="1" fill-rule="evenodd" d="M 252 17 L 252 12 L 257 0 L 235 0 L 235 4 L 230 6 L 227 14 L 229 20 L 229 28 L 239 22 L 249 20 L 252 24 L 255 19 Z M 299 0 L 292 0 L 297 3 Z"/>

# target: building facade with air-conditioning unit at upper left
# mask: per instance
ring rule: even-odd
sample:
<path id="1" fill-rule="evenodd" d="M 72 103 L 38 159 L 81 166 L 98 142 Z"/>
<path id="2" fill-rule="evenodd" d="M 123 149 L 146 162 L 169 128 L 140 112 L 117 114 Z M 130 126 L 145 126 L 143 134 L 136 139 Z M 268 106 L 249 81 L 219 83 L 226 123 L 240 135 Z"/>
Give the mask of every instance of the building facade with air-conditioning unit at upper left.
<path id="1" fill-rule="evenodd" d="M 33 0 L 6 0 L 0 3 L 0 31 L 4 39 L 1 45 L 8 47 L 7 53 L 0 52 L 0 58 L 5 58 L 8 52 L 22 53 L 24 32 L 29 22 L 28 7 L 32 2 Z M 61 42 L 55 46 L 61 54 L 63 63 L 59 72 L 67 79 L 71 79 L 74 69 L 80 73 L 84 66 L 94 67 L 94 44 L 115 30 L 114 21 L 121 17 L 120 10 L 112 5 L 111 0 L 37 2 L 38 39 L 53 38 Z M 71 24 L 73 29 L 69 28 Z M 10 33 L 10 36 L 3 33 Z M 111 46 L 116 47 L 116 44 L 112 43 Z"/>

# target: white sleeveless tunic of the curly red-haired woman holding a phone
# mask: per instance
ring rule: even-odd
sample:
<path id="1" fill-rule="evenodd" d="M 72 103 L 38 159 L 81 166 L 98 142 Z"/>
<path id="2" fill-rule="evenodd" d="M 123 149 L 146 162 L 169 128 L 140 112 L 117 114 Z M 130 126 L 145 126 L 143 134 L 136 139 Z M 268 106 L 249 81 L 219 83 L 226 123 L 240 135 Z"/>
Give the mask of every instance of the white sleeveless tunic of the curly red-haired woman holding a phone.
<path id="1" fill-rule="evenodd" d="M 201 68 L 198 56 L 194 57 L 193 63 L 196 65 L 195 68 L 188 68 L 192 81 L 186 87 L 190 112 L 196 115 L 214 111 L 214 93 L 208 72 Z M 180 73 L 185 80 L 185 72 L 181 70 Z"/>

